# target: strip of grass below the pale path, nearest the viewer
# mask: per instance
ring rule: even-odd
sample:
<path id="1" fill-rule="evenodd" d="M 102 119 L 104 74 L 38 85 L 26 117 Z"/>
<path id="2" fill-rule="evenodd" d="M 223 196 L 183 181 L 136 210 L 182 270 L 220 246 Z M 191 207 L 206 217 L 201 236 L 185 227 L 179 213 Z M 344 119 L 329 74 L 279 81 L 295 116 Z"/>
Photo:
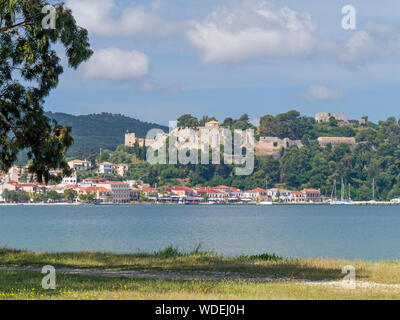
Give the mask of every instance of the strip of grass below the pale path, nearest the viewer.
<path id="1" fill-rule="evenodd" d="M 0 300 L 219 300 L 399 299 L 389 290 L 345 290 L 293 282 L 148 280 L 57 275 L 57 289 L 43 290 L 42 274 L 0 271 Z"/>

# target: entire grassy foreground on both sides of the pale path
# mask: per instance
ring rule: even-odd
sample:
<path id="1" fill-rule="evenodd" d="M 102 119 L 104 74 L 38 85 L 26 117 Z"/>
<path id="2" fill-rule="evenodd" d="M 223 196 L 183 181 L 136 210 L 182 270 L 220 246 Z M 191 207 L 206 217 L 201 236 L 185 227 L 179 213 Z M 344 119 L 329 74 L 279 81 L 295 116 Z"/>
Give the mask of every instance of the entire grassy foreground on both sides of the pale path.
<path id="1" fill-rule="evenodd" d="M 359 281 L 400 284 L 399 261 L 284 259 L 274 254 L 227 258 L 200 247 L 182 253 L 172 246 L 152 254 L 31 253 L 0 249 L 0 265 L 87 269 L 239 272 L 289 279 L 341 280 L 342 267 L 356 268 Z M 292 281 L 153 280 L 99 275 L 57 274 L 57 289 L 41 289 L 43 274 L 0 270 L 0 299 L 399 299 L 400 290 L 346 290 Z"/>

